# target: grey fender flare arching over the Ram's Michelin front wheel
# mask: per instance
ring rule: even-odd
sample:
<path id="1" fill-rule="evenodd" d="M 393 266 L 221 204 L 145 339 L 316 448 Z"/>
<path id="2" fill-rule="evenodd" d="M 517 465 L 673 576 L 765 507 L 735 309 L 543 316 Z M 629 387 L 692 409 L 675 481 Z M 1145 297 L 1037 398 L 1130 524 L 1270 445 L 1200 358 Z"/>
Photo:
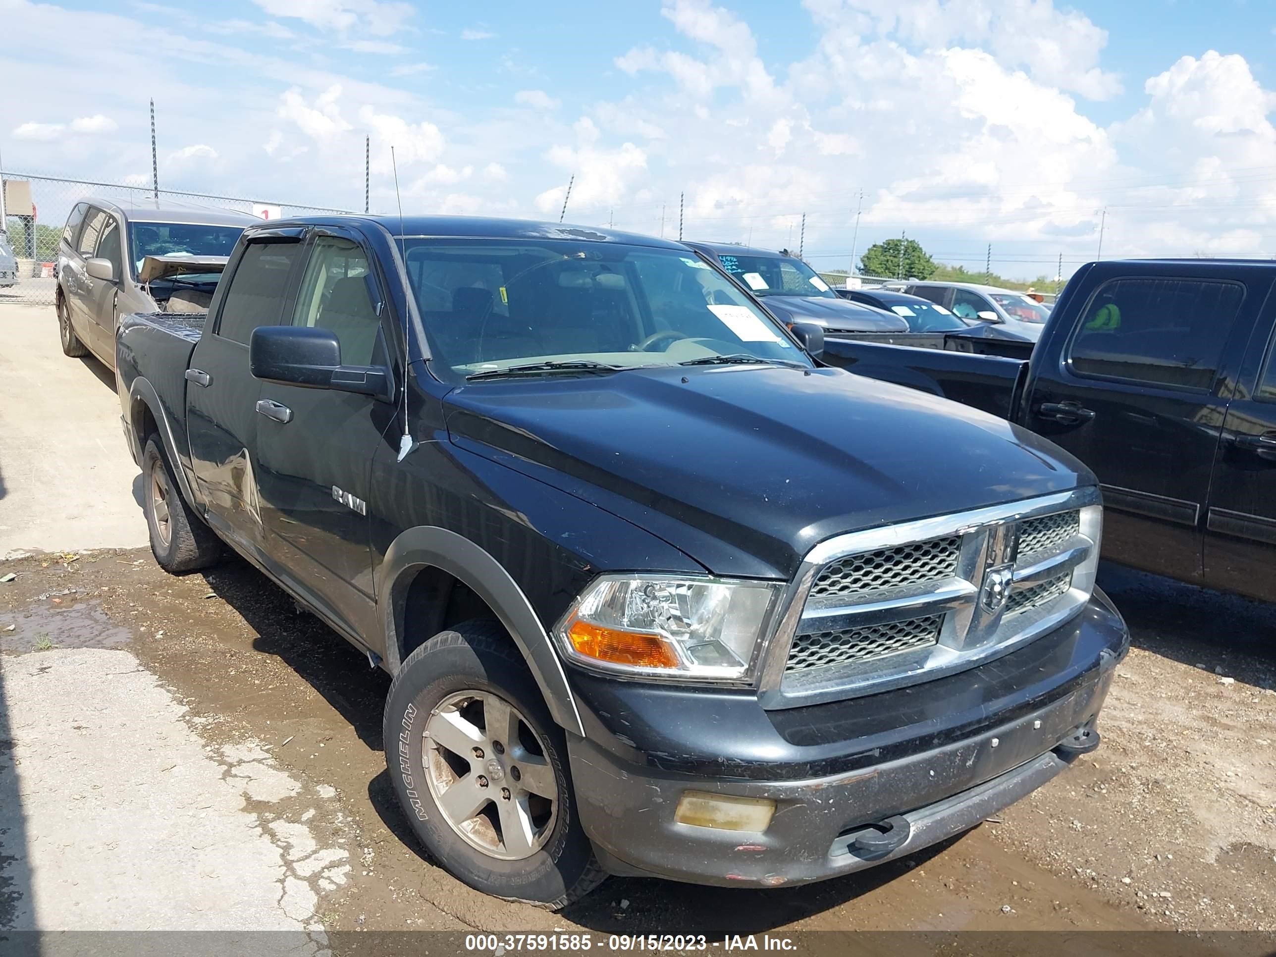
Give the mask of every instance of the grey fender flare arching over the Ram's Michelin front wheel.
<path id="1" fill-rule="evenodd" d="M 399 670 L 403 609 L 412 572 L 434 567 L 464 582 L 496 612 L 513 637 L 554 721 L 584 736 L 575 697 L 567 681 L 554 642 L 523 590 L 487 551 L 468 538 L 436 526 L 417 526 L 398 535 L 385 551 L 376 587 L 378 615 L 385 628 L 385 658 L 390 674 Z"/>

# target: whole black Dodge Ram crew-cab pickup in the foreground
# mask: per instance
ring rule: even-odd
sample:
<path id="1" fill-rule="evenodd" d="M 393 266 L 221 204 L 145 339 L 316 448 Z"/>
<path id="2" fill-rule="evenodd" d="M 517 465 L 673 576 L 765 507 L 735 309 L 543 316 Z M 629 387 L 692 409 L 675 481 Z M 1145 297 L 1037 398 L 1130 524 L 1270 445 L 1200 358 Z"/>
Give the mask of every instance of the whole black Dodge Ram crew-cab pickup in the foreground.
<path id="1" fill-rule="evenodd" d="M 1097 746 L 1128 634 L 1071 456 L 824 367 L 685 246 L 399 226 L 248 228 L 207 322 L 121 322 L 119 392 L 160 564 L 225 541 L 393 675 L 462 880 L 831 878 Z"/>

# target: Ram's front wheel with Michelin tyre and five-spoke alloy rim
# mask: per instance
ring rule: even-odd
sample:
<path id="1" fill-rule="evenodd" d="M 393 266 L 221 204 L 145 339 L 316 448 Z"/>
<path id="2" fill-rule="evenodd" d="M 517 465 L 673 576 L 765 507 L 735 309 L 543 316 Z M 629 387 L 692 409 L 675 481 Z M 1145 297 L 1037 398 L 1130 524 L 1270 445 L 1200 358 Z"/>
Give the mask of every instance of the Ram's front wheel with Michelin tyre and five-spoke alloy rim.
<path id="1" fill-rule="evenodd" d="M 467 621 L 413 651 L 384 732 L 408 822 L 454 877 L 551 910 L 604 880 L 575 815 L 567 739 L 499 623 Z"/>

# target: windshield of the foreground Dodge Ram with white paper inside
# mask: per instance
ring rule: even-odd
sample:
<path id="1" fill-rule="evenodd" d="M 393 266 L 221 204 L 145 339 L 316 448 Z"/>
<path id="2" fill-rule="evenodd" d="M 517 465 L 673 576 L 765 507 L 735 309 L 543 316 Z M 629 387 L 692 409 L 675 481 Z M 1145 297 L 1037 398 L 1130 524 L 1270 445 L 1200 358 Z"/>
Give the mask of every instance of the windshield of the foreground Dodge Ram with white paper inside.
<path id="1" fill-rule="evenodd" d="M 730 279 L 690 253 L 563 240 L 404 239 L 403 246 L 434 366 L 452 378 L 722 356 L 812 365 Z"/>

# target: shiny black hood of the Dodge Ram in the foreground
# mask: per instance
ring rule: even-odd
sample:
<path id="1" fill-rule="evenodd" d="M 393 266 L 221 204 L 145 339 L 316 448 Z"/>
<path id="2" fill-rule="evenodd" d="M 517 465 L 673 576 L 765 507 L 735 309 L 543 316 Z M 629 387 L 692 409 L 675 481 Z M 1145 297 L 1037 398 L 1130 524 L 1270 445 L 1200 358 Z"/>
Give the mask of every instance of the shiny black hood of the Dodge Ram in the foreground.
<path id="1" fill-rule="evenodd" d="M 444 402 L 456 444 L 627 518 L 716 574 L 790 578 L 833 535 L 1095 481 L 1020 426 L 840 369 L 517 379 Z"/>

